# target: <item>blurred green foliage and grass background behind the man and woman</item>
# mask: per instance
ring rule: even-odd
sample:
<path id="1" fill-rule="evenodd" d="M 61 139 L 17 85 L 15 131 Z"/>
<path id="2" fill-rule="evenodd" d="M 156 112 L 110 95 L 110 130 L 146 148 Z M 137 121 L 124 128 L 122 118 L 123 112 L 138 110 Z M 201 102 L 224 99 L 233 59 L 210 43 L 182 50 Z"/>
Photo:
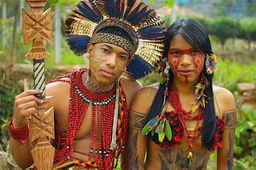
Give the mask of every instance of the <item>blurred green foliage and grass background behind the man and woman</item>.
<path id="1" fill-rule="evenodd" d="M 56 65 L 86 65 L 82 57 L 76 57 L 65 43 L 63 25 L 66 13 L 70 12 L 78 0 L 49 0 L 45 9 L 53 10 L 53 43 L 46 44 L 52 54 L 45 60 L 46 68 Z M 215 73 L 214 84 L 230 90 L 238 108 L 237 129 L 235 131 L 234 164 L 236 169 L 255 169 L 256 155 L 256 104 L 255 100 L 245 103 L 241 100 L 238 83 L 256 83 L 256 2 L 242 0 L 190 0 L 154 1 L 145 0 L 164 17 L 166 26 L 172 17 L 192 17 L 200 21 L 212 42 L 213 51 L 219 56 L 219 68 Z M 164 7 L 169 6 L 169 8 Z M 14 7 L 18 6 L 18 11 Z M 0 65 L 32 64 L 23 59 L 30 45 L 23 46 L 21 7 L 29 10 L 24 0 L 3 0 L 0 2 Z M 172 10 L 171 10 L 172 8 Z M 173 10 L 175 8 L 175 10 Z M 164 11 L 164 12 L 162 12 Z M 175 13 L 176 12 L 176 13 Z M 15 19 L 16 16 L 16 19 Z M 18 18 L 18 19 L 17 19 Z M 16 24 L 15 24 L 16 23 Z M 16 26 L 15 26 L 16 25 Z M 58 36 L 60 33 L 60 36 Z M 56 59 L 58 58 L 58 59 Z M 144 86 L 158 81 L 157 72 L 139 80 Z M 8 121 L 12 116 L 14 98 L 21 92 L 8 72 L 0 70 L 0 169 L 12 169 L 8 152 Z M 253 93 L 255 95 L 255 91 Z M 255 98 L 252 97 L 252 98 Z M 216 153 L 211 155 L 208 169 L 215 169 Z M 17 167 L 15 167 L 17 168 Z"/>

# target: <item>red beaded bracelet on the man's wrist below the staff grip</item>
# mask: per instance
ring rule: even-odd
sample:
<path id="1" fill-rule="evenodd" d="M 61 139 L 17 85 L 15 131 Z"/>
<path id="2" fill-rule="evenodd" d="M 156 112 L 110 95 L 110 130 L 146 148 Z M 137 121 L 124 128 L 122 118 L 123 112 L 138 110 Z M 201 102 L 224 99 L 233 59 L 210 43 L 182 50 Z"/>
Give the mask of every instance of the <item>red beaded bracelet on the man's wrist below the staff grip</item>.
<path id="1" fill-rule="evenodd" d="M 29 125 L 27 124 L 23 128 L 15 128 L 14 125 L 12 125 L 12 120 L 13 118 L 11 118 L 8 124 L 10 136 L 23 145 L 25 144 L 26 138 L 29 137 Z"/>

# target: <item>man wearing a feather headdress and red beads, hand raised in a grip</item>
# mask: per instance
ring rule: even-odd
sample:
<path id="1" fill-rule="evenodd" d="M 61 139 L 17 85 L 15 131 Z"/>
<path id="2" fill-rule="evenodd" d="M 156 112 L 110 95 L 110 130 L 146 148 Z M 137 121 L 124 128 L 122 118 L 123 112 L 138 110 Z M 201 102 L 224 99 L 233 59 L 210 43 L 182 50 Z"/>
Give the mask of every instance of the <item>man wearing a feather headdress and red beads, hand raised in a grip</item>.
<path id="1" fill-rule="evenodd" d="M 65 22 L 67 41 L 76 55 L 86 53 L 89 69 L 46 85 L 46 96 L 53 96 L 48 108 L 55 112 L 53 168 L 113 169 L 125 151 L 131 101 L 142 88 L 134 79 L 154 70 L 165 32 L 163 20 L 140 1 L 86 0 L 72 11 Z M 133 79 L 123 77 L 124 71 Z M 21 132 L 11 135 L 10 151 L 22 168 L 33 164 L 28 121 L 42 103 L 35 97 L 39 93 L 19 94 L 9 123 L 11 134 Z"/>

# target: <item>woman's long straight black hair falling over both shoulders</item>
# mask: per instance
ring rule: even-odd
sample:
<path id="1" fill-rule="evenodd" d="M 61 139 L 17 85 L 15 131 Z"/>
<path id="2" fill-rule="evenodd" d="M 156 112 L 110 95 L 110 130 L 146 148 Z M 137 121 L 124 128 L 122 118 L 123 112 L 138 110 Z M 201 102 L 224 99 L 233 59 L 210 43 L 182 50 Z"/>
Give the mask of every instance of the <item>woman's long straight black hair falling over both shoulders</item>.
<path id="1" fill-rule="evenodd" d="M 172 38 L 176 35 L 181 35 L 184 39 L 187 40 L 188 43 L 191 44 L 194 48 L 199 48 L 203 51 L 204 55 L 211 55 L 212 47 L 211 42 L 208 36 L 208 33 L 204 26 L 198 21 L 191 18 L 181 18 L 174 22 L 169 29 L 167 30 L 167 34 L 165 37 L 165 48 L 163 58 L 168 57 L 170 42 Z M 168 91 L 170 91 L 171 82 L 173 81 L 173 73 L 170 70 L 170 79 L 168 82 Z M 213 74 L 209 75 L 206 73 L 206 68 L 204 66 L 203 73 L 205 77 L 210 82 L 204 91 L 208 98 L 208 104 L 206 104 L 204 109 L 204 125 L 203 125 L 203 134 L 202 134 L 202 145 L 208 150 L 212 150 L 213 142 L 214 142 L 214 132 L 216 127 L 216 113 L 214 108 L 214 100 L 213 100 L 213 90 L 212 90 L 212 79 Z M 156 117 L 159 112 L 161 112 L 161 106 L 164 101 L 164 91 L 165 84 L 160 84 L 159 89 L 157 91 L 156 96 L 154 97 L 153 103 L 151 105 L 149 114 L 147 114 L 146 123 L 150 121 L 152 118 Z M 150 137 L 151 135 L 149 135 Z"/>

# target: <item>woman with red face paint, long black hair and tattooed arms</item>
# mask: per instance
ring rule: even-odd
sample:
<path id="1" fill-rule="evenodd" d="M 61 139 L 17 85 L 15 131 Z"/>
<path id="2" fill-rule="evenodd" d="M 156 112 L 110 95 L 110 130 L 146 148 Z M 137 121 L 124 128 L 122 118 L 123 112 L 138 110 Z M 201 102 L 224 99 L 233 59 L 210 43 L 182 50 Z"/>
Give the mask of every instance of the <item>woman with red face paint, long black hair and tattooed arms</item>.
<path id="1" fill-rule="evenodd" d="M 215 149 L 217 168 L 233 169 L 236 108 L 230 91 L 212 86 L 217 66 L 203 25 L 170 26 L 160 84 L 139 90 L 130 108 L 131 169 L 207 169 Z"/>

